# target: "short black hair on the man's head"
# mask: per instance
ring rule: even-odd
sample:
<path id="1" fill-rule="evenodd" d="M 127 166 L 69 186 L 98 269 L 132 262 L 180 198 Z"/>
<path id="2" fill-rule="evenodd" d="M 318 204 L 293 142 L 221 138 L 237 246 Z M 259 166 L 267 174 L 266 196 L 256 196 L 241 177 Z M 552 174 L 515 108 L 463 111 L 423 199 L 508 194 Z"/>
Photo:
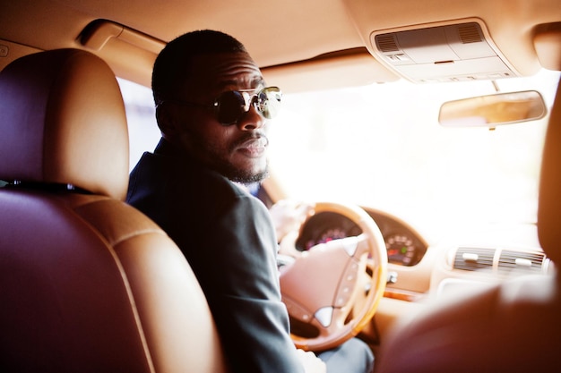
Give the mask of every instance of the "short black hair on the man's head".
<path id="1" fill-rule="evenodd" d="M 156 58 L 152 70 L 154 102 L 161 102 L 177 93 L 191 73 L 191 62 L 197 55 L 247 53 L 236 38 L 215 30 L 187 32 L 170 41 Z"/>

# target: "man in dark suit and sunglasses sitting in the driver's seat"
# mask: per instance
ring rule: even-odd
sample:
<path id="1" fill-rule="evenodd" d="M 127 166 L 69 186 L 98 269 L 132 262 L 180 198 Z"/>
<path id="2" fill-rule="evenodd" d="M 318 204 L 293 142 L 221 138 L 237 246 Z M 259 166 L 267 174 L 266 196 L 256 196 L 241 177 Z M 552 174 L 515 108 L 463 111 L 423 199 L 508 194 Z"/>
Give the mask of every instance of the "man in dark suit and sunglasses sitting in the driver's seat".
<path id="1" fill-rule="evenodd" d="M 185 254 L 231 370 L 325 371 L 312 352 L 298 352 L 290 340 L 271 217 L 235 183 L 259 182 L 267 174 L 265 130 L 280 90 L 266 87 L 241 43 L 211 30 L 168 43 L 154 64 L 152 90 L 162 139 L 134 168 L 127 201 Z M 366 345 L 352 343 L 326 352 L 328 371 L 341 359 L 353 360 L 345 372 L 352 365 L 371 369 Z"/>

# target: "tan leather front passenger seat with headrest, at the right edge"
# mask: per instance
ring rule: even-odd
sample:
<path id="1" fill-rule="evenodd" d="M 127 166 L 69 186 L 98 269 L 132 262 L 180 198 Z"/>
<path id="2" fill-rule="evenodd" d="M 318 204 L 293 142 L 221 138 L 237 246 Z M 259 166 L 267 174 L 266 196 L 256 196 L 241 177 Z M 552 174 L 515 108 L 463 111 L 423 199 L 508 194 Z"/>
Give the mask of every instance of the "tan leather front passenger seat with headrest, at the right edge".
<path id="1" fill-rule="evenodd" d="M 539 189 L 539 242 L 561 265 L 561 86 Z M 561 371 L 561 276 L 523 276 L 437 304 L 383 341 L 377 373 Z"/>

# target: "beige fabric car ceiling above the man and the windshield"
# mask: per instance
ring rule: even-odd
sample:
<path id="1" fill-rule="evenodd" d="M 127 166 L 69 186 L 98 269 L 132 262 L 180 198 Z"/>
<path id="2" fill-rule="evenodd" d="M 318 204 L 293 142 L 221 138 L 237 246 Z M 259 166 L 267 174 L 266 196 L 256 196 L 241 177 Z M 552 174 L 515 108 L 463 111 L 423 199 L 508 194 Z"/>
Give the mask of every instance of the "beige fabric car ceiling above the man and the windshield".
<path id="1" fill-rule="evenodd" d="M 400 77 L 372 53 L 374 31 L 470 18 L 487 26 L 519 74 L 537 72 L 540 59 L 556 70 L 561 65 L 558 0 L 4 0 L 0 68 L 38 50 L 80 47 L 104 58 L 118 76 L 149 85 L 165 42 L 188 30 L 214 29 L 241 40 L 265 77 L 285 90 L 369 84 Z M 115 31 L 108 42 L 84 42 L 99 20 L 123 26 L 131 37 L 119 39 L 125 32 Z M 553 30 L 553 37 L 538 55 L 534 42 L 543 30 Z"/>

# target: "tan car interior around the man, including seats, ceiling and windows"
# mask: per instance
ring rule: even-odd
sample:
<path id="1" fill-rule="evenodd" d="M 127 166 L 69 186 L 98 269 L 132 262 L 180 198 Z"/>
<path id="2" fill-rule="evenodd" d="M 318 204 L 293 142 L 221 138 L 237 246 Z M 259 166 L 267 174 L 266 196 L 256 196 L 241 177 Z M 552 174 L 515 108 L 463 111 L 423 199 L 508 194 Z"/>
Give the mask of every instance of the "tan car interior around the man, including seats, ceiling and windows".
<path id="1" fill-rule="evenodd" d="M 273 217 L 306 207 L 278 253 L 298 348 L 358 337 L 376 372 L 561 368 L 557 0 L 0 11 L 1 371 L 229 371 L 189 263 L 125 203 L 160 137 L 152 64 L 203 29 L 282 90 L 249 189 Z"/>

